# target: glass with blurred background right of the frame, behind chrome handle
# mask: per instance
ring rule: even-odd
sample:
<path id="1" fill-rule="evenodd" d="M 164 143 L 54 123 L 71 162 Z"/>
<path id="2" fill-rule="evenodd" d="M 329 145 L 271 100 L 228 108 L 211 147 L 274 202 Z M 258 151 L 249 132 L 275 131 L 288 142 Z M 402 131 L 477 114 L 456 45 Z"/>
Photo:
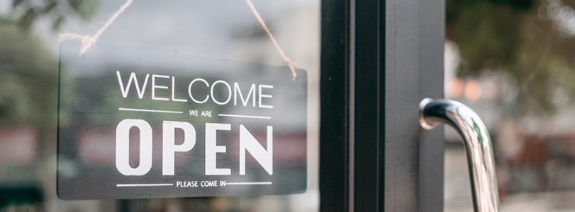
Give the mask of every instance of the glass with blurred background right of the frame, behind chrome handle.
<path id="1" fill-rule="evenodd" d="M 575 4 L 447 0 L 445 95 L 493 139 L 502 211 L 575 210 Z M 472 211 L 466 156 L 447 129 L 446 211 Z"/>

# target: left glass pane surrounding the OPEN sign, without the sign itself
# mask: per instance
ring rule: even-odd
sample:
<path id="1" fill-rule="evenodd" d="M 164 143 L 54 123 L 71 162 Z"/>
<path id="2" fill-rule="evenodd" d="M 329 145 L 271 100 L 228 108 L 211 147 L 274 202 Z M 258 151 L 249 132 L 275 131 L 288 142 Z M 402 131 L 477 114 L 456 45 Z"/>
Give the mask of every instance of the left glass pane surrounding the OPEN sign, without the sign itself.
<path id="1" fill-rule="evenodd" d="M 91 48 L 108 46 L 273 66 L 283 66 L 284 59 L 246 1 L 133 1 L 129 5 L 125 1 L 101 0 L 0 1 L 0 211 L 318 211 L 320 4 L 299 0 L 252 3 L 283 54 L 296 63 L 297 69 L 307 71 L 307 152 L 303 152 L 307 156 L 306 192 L 58 199 L 57 108 L 62 38 L 80 44 L 75 35 L 101 32 L 86 54 Z M 115 13 L 119 15 L 110 21 Z M 138 52 L 132 54 L 138 57 Z M 106 146 L 92 143 L 85 148 L 97 151 Z M 91 156 L 98 160 L 97 155 Z"/>

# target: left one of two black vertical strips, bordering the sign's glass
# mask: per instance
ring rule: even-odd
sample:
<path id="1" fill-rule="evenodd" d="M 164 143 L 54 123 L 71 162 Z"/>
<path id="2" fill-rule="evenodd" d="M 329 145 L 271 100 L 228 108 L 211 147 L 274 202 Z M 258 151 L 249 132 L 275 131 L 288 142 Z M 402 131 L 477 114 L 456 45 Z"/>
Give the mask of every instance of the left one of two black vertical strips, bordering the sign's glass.
<path id="1" fill-rule="evenodd" d="M 321 3 L 320 210 L 348 210 L 349 3 Z"/>

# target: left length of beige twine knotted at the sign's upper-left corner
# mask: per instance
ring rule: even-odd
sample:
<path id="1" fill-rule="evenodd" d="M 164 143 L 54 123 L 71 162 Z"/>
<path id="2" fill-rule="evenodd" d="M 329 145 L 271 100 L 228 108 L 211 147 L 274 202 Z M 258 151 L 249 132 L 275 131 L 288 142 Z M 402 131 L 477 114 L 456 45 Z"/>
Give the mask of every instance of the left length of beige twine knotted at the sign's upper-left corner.
<path id="1" fill-rule="evenodd" d="M 84 55 L 84 53 L 86 53 L 86 51 L 88 51 L 88 49 L 90 49 L 90 47 L 94 45 L 94 43 L 96 42 L 96 40 L 98 40 L 98 38 L 102 35 L 102 33 L 104 33 L 104 30 L 106 30 L 106 28 L 108 28 L 108 26 L 110 26 L 113 23 L 113 21 L 116 20 L 116 18 L 118 18 L 118 16 L 120 16 L 120 14 L 123 13 L 123 11 L 125 11 L 125 9 L 128 8 L 130 4 L 132 4 L 132 1 L 134 0 L 125 1 L 125 3 L 118 9 L 118 11 L 116 11 L 116 13 L 113 13 L 113 15 L 110 16 L 110 18 L 108 18 L 108 21 L 104 23 L 104 25 L 96 32 L 96 34 L 88 36 L 88 35 L 76 35 L 71 33 L 61 33 L 59 35 L 59 40 L 81 41 L 82 48 L 80 49 L 80 55 Z"/>

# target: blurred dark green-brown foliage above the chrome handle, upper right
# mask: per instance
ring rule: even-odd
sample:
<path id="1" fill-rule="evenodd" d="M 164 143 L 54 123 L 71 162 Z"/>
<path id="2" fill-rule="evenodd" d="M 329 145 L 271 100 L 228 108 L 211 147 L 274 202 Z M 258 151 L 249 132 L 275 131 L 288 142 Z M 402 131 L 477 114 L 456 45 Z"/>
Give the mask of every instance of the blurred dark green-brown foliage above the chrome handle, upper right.
<path id="1" fill-rule="evenodd" d="M 459 46 L 463 78 L 498 74 L 515 89 L 506 112 L 552 114 L 575 99 L 573 1 L 447 0 L 446 38 Z M 569 13 L 572 11 L 572 13 Z M 573 29 L 570 31 L 570 29 Z"/>

